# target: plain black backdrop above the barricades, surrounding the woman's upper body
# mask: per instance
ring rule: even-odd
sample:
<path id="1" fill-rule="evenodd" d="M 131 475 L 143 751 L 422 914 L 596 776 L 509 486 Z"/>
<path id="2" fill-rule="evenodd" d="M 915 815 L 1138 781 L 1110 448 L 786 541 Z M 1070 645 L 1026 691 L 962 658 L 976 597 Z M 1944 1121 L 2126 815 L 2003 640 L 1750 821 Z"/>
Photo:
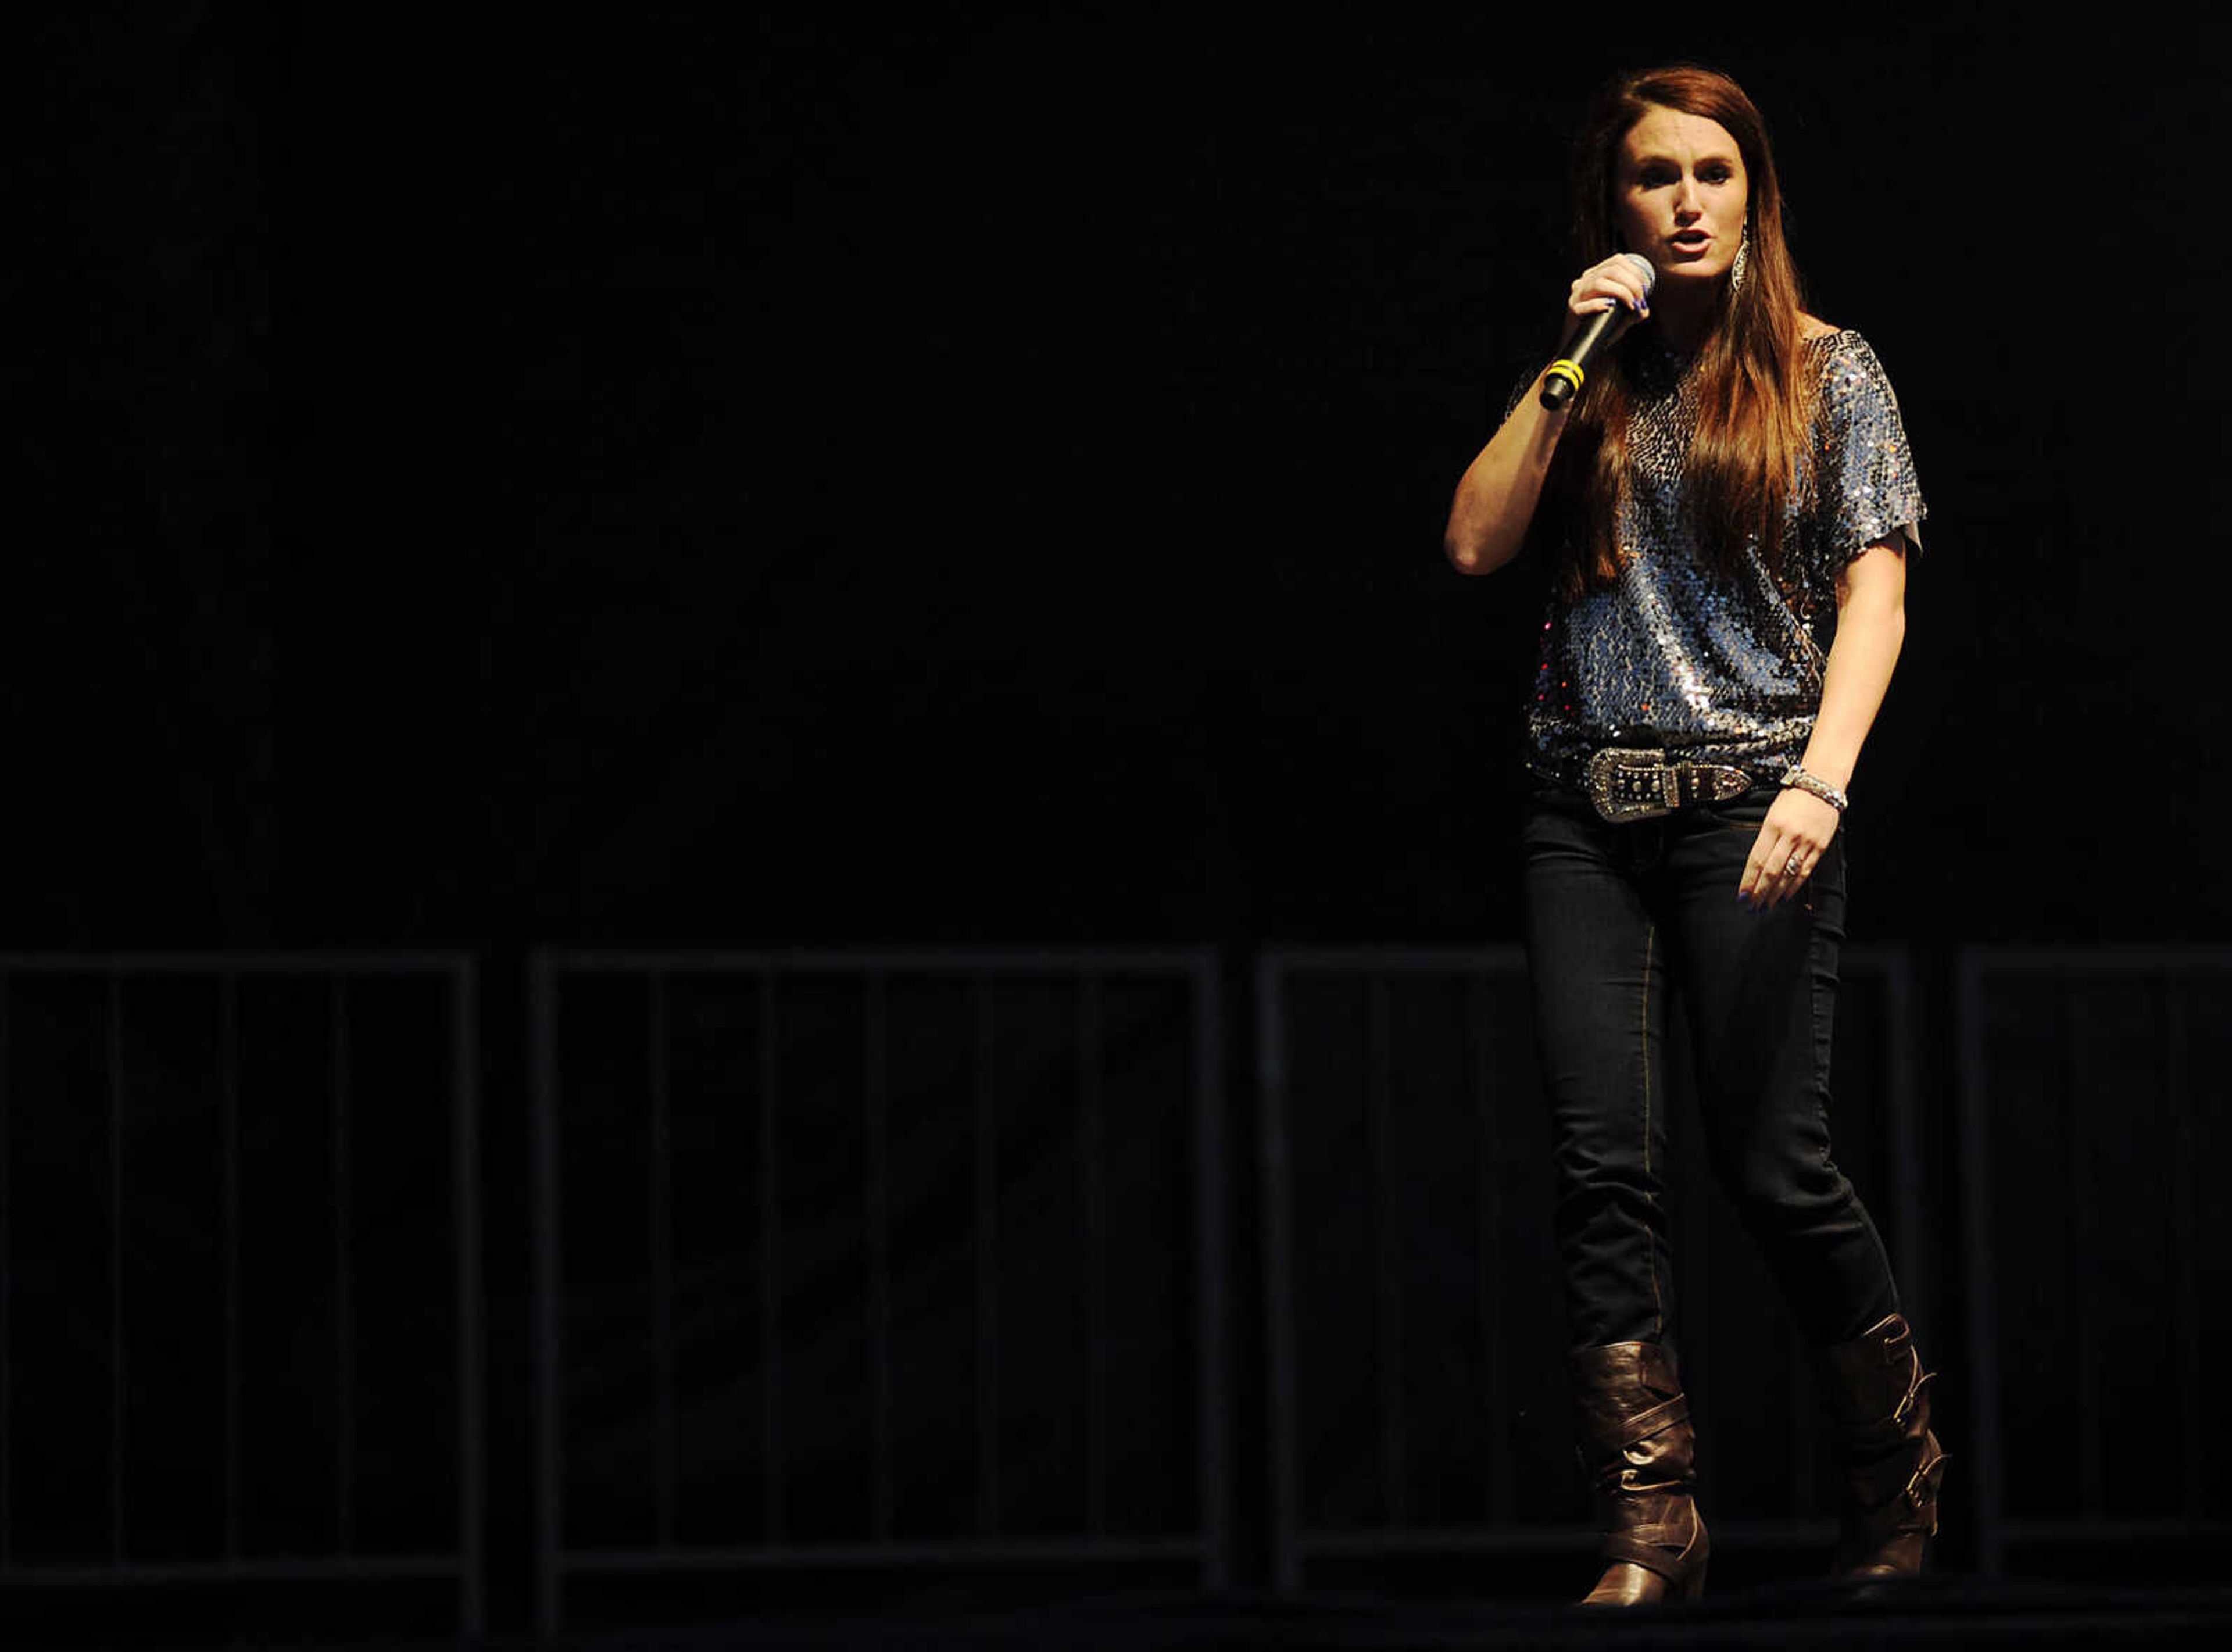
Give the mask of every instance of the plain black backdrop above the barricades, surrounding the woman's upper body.
<path id="1" fill-rule="evenodd" d="M 1855 933 L 2216 933 L 2201 7 L 25 16 L 20 947 L 1509 935 L 1437 536 L 1667 56 L 1931 505 Z"/>

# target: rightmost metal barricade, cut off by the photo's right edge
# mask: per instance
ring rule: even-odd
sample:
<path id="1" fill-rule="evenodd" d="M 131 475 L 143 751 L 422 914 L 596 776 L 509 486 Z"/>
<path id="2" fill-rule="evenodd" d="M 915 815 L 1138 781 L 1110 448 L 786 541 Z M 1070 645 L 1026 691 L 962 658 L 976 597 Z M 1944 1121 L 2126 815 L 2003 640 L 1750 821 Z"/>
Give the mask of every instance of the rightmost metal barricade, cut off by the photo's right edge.
<path id="1" fill-rule="evenodd" d="M 1980 1565 L 2221 1576 L 2232 949 L 1980 947 L 1955 989 Z"/>

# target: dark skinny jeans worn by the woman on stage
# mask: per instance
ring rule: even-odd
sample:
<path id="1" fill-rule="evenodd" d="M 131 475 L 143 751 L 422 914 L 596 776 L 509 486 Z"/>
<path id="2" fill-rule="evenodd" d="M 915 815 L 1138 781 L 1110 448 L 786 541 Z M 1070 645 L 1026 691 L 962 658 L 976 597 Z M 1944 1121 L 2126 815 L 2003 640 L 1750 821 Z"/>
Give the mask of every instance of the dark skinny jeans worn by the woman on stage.
<path id="1" fill-rule="evenodd" d="M 1687 1011 L 1705 1152 L 1799 1326 L 1857 1337 L 1899 1293 L 1828 1145 L 1844 833 L 1772 911 L 1736 900 L 1774 801 L 1612 826 L 1585 797 L 1527 810 L 1527 951 L 1551 1103 L 1571 1346 L 1672 1342 L 1670 987 Z"/>

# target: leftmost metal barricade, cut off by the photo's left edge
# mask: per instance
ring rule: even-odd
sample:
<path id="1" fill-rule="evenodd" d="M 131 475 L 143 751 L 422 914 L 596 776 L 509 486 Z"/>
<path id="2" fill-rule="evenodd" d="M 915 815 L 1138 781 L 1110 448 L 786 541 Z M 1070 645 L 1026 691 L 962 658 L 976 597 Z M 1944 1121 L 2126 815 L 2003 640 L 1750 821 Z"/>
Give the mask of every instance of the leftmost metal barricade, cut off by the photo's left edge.
<path id="1" fill-rule="evenodd" d="M 475 1018 L 455 955 L 0 958 L 0 1592 L 482 1632 Z"/>

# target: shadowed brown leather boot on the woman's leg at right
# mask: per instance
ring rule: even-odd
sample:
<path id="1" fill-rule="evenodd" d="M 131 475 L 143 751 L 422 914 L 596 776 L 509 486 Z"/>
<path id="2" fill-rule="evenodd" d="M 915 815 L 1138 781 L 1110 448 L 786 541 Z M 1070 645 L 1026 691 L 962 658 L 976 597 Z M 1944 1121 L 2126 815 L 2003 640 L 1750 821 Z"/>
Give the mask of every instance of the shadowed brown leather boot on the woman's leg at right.
<path id="1" fill-rule="evenodd" d="M 1931 1433 L 1931 1375 L 1915 1333 L 1891 1315 L 1824 1353 L 1830 1413 L 1844 1433 L 1839 1583 L 1911 1578 L 1937 1536 L 1946 1453 Z"/>

